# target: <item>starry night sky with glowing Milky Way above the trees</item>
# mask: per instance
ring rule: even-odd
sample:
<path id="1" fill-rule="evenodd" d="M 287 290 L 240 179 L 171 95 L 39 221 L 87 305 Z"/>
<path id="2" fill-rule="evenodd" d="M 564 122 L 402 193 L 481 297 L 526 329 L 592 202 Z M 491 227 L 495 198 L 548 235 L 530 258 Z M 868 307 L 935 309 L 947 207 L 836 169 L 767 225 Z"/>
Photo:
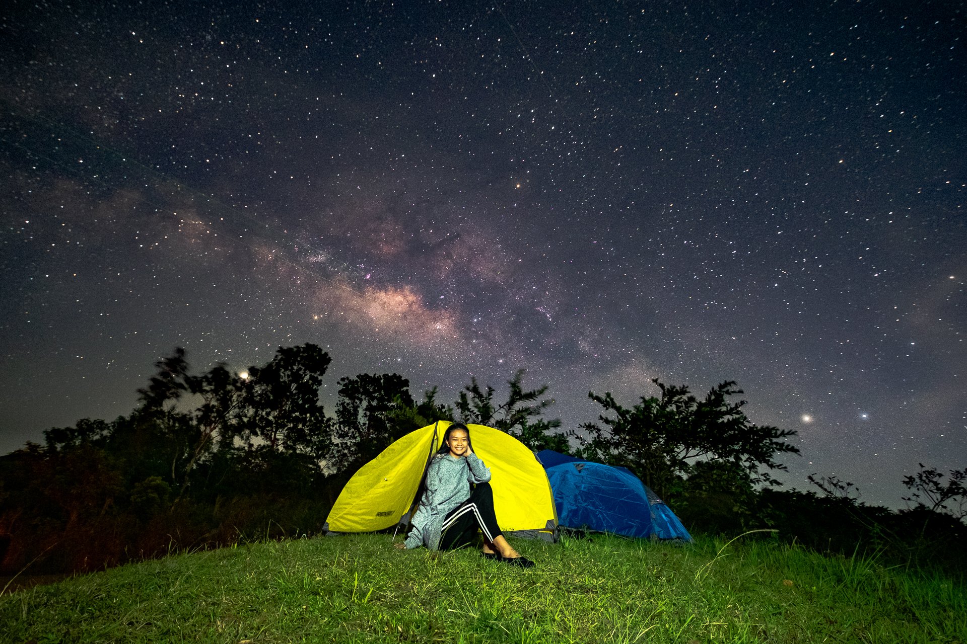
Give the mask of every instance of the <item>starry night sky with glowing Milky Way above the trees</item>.
<path id="1" fill-rule="evenodd" d="M 964 2 L 0 11 L 3 453 L 311 342 L 329 405 L 734 379 L 795 488 L 967 466 Z"/>

